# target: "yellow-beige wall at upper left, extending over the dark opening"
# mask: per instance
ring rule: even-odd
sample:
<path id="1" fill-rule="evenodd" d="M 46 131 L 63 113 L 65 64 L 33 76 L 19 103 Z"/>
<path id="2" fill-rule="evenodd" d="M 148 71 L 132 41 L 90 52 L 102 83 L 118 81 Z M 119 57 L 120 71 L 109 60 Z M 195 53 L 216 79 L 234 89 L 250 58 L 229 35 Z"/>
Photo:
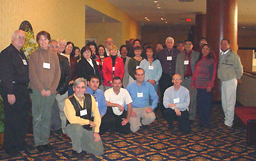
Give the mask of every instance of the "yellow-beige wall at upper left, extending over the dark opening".
<path id="1" fill-rule="evenodd" d="M 122 43 L 140 36 L 140 24 L 105 0 L 2 0 L 0 5 L 0 50 L 10 44 L 12 32 L 28 20 L 34 33 L 45 30 L 52 38 L 63 37 L 77 46 L 84 45 L 85 6 L 122 22 Z"/>

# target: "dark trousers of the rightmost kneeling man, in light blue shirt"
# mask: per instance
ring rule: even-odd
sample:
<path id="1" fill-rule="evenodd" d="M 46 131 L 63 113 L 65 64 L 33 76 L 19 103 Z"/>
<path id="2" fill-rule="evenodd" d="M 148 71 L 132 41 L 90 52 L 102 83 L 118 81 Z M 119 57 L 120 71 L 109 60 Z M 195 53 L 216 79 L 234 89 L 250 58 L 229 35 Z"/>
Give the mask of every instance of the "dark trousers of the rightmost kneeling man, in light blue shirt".
<path id="1" fill-rule="evenodd" d="M 173 120 L 177 119 L 179 123 L 179 129 L 182 130 L 182 132 L 188 134 L 191 130 L 191 125 L 188 119 L 188 111 L 180 111 L 181 116 L 177 116 L 175 111 L 171 108 L 167 108 L 164 110 L 164 118 L 169 124 L 169 128 L 171 129 L 173 127 L 172 122 Z"/>

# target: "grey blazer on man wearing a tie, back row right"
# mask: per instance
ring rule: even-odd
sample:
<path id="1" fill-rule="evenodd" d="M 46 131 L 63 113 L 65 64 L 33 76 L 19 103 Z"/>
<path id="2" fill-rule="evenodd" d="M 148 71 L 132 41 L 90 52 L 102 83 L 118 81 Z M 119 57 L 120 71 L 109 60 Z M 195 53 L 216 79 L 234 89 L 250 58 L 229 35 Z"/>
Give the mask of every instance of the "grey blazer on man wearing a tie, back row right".
<path id="1" fill-rule="evenodd" d="M 194 73 L 196 61 L 199 57 L 199 54 L 200 54 L 199 52 L 192 50 L 191 59 L 189 61 L 189 63 L 191 64 L 192 73 Z M 185 57 L 185 52 L 181 52 L 177 55 L 176 71 L 175 71 L 175 73 L 180 74 L 180 76 L 182 77 L 182 80 L 184 80 L 184 57 Z"/>

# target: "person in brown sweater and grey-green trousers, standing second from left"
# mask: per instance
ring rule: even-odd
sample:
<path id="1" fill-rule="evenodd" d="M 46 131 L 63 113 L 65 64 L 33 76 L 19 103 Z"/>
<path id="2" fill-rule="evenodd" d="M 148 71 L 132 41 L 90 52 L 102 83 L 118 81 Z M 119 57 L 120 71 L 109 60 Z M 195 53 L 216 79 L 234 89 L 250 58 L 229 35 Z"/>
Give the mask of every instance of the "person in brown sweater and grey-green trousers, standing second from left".
<path id="1" fill-rule="evenodd" d="M 48 139 L 52 104 L 61 74 L 58 55 L 48 50 L 50 39 L 51 36 L 48 32 L 38 32 L 36 41 L 39 48 L 31 53 L 29 59 L 29 80 L 33 89 L 33 93 L 31 93 L 33 133 L 36 149 L 39 152 L 53 149 Z"/>

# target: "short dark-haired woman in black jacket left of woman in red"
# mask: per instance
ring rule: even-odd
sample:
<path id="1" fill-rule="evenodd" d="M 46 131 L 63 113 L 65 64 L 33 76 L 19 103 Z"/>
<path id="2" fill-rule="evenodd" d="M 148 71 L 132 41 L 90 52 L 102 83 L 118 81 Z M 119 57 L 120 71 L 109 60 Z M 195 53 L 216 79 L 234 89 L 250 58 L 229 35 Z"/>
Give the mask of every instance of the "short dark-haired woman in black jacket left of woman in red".
<path id="1" fill-rule="evenodd" d="M 89 76 L 100 76 L 99 69 L 95 60 L 91 59 L 92 50 L 89 46 L 81 49 L 81 60 L 77 64 L 77 76 L 88 80 Z"/>

